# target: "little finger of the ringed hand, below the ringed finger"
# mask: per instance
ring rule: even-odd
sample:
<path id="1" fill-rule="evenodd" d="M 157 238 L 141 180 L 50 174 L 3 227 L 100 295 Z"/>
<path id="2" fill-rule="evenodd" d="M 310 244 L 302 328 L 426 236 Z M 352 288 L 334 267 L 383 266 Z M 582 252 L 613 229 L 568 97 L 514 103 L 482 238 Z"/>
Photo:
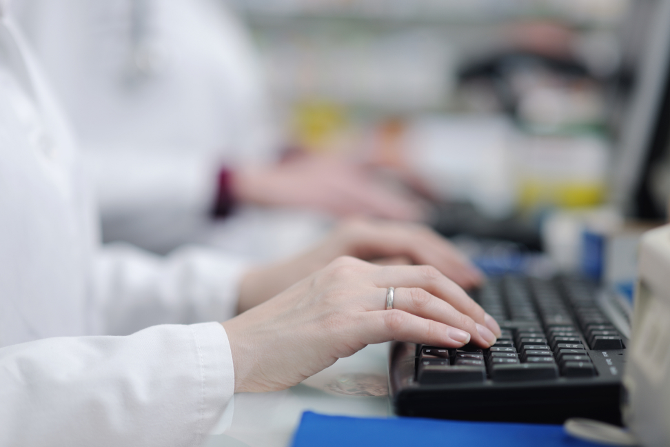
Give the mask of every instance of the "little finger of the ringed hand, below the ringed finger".
<path id="1" fill-rule="evenodd" d="M 396 340 L 459 348 L 470 339 L 470 335 L 463 330 L 402 310 L 377 310 L 360 315 L 362 321 L 356 321 L 356 327 L 363 331 L 358 337 L 365 344 Z"/>

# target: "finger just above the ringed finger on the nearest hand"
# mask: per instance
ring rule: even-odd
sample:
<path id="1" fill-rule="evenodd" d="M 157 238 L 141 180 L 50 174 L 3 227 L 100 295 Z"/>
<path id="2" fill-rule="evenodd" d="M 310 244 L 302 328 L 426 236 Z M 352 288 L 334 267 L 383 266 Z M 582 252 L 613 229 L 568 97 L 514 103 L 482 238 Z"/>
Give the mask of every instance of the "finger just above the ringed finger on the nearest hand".
<path id="1" fill-rule="evenodd" d="M 454 281 L 431 266 L 387 266 L 380 267 L 372 275 L 377 287 L 422 288 L 426 292 L 447 301 L 459 312 L 468 315 L 478 324 L 487 325 L 486 313 Z M 499 334 L 499 328 L 489 328 Z"/>

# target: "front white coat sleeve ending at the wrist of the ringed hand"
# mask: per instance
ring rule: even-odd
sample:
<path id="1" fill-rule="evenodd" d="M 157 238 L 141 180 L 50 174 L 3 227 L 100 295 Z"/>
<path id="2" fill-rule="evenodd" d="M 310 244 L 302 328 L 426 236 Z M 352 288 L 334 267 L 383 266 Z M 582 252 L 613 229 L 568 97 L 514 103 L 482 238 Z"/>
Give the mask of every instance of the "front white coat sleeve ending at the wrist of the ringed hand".
<path id="1" fill-rule="evenodd" d="M 1 446 L 197 446 L 234 393 L 219 323 L 0 349 Z"/>

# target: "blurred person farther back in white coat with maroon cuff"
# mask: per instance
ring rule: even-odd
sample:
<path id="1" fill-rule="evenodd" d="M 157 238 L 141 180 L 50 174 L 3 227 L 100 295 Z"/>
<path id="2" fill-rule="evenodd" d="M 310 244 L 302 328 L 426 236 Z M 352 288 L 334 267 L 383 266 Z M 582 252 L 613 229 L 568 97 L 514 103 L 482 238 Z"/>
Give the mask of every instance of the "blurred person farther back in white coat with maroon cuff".
<path id="1" fill-rule="evenodd" d="M 423 218 L 418 201 L 363 166 L 281 160 L 287 144 L 254 49 L 223 1 L 25 0 L 15 8 L 94 173 L 106 241 L 161 254 L 200 242 L 276 259 L 321 237 L 330 221 L 253 206 Z M 212 209 L 228 219 L 215 221 Z"/>

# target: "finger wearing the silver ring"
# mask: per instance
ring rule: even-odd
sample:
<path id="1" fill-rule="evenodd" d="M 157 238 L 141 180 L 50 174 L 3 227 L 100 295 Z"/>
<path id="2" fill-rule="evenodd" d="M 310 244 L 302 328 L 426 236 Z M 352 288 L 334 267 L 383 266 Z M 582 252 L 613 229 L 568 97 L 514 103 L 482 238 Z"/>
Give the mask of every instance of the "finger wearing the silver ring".
<path id="1" fill-rule="evenodd" d="M 386 290 L 380 289 L 384 298 Z M 374 297 L 374 305 L 371 310 L 382 310 L 386 308 L 385 299 Z M 403 312 L 416 315 L 424 319 L 432 319 L 453 328 L 465 330 L 471 335 L 471 341 L 483 348 L 489 348 L 496 343 L 496 335 L 483 324 L 476 323 L 471 317 L 458 312 L 446 301 L 434 297 L 420 288 L 396 288 L 394 291 L 393 308 Z"/>

